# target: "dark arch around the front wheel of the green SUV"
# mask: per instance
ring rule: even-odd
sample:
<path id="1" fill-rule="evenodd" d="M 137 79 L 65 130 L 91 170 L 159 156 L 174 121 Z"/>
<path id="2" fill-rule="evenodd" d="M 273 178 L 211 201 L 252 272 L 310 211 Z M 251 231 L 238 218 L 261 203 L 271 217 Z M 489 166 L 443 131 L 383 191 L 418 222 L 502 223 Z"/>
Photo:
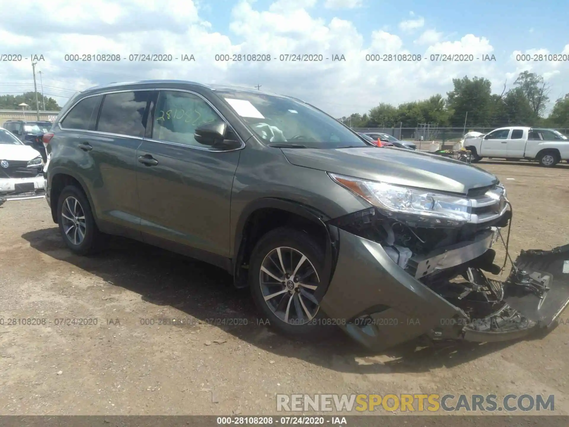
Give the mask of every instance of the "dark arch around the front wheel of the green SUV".
<path id="1" fill-rule="evenodd" d="M 323 297 L 332 278 L 338 248 L 337 229 L 326 224 L 329 219 L 323 212 L 294 200 L 262 198 L 250 202 L 237 221 L 232 257 L 234 285 L 248 286 L 249 257 L 259 238 L 271 229 L 291 225 L 311 235 L 316 233 L 324 245 L 324 286 L 315 295 L 318 299 Z"/>

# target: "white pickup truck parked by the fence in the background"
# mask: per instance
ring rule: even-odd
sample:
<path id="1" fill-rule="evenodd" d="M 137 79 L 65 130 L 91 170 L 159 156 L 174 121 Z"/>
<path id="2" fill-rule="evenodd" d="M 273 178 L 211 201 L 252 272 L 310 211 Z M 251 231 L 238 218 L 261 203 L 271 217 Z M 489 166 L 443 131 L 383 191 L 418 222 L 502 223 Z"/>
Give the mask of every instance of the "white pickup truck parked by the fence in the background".
<path id="1" fill-rule="evenodd" d="M 542 166 L 552 167 L 569 160 L 569 139 L 554 129 L 498 128 L 479 138 L 465 139 L 464 148 L 472 151 L 472 162 L 484 157 L 535 159 Z"/>

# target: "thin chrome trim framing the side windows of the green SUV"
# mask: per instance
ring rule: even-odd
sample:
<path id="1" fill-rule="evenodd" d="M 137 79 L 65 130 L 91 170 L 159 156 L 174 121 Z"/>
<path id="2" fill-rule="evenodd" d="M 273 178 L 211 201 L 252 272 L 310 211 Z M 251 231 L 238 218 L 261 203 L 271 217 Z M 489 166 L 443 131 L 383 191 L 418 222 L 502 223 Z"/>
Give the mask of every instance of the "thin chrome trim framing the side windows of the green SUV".
<path id="1" fill-rule="evenodd" d="M 194 146 L 194 145 L 187 145 L 187 144 L 183 144 L 180 142 L 173 142 L 173 141 L 163 141 L 161 139 L 154 139 L 154 138 L 144 138 L 144 137 L 135 137 L 132 135 L 125 135 L 125 134 L 118 134 L 118 133 L 108 133 L 108 132 L 100 132 L 98 130 L 89 130 L 89 129 L 75 129 L 75 128 L 64 128 L 63 126 L 61 126 L 61 122 L 65 120 L 65 117 L 67 117 L 67 114 L 69 114 L 69 112 L 71 112 L 71 110 L 73 108 L 75 108 L 75 106 L 77 104 L 79 104 L 79 102 L 83 101 L 86 98 L 91 98 L 93 96 L 104 96 L 104 95 L 109 95 L 111 93 L 122 93 L 122 92 L 141 92 L 141 91 L 171 91 L 171 92 L 185 92 L 185 93 L 189 93 L 191 95 L 195 95 L 199 98 L 201 98 L 202 100 L 204 100 L 206 102 L 206 104 L 208 104 L 216 113 L 219 117 L 221 117 L 221 120 L 223 120 L 225 122 L 225 124 L 228 126 L 228 128 L 230 130 L 232 130 L 232 132 L 234 134 L 236 134 L 237 138 L 239 138 L 239 141 L 241 142 L 241 147 L 239 148 L 235 148 L 232 150 L 212 150 L 206 147 L 198 147 L 198 146 Z M 194 92 L 194 91 L 190 91 L 189 89 L 180 89 L 180 88 L 144 88 L 144 89 L 121 89 L 119 91 L 109 91 L 109 92 L 100 92 L 100 93 L 93 93 L 93 95 L 87 95 L 84 96 L 82 98 L 80 98 L 79 100 L 77 100 L 75 103 L 73 103 L 73 105 L 71 107 L 69 107 L 69 109 L 67 110 L 67 112 L 65 112 L 65 114 L 60 118 L 60 120 L 57 120 L 57 126 L 59 127 L 59 129 L 61 130 L 71 130 L 71 131 L 75 131 L 75 132 L 87 132 L 87 133 L 92 133 L 92 134 L 96 134 L 96 135 L 102 135 L 102 136 L 110 136 L 110 137 L 123 137 L 123 138 L 134 138 L 134 139 L 140 139 L 143 141 L 151 141 L 151 142 L 158 142 L 158 143 L 165 143 L 165 144 L 170 144 L 170 145 L 175 145 L 175 146 L 180 146 L 180 147 L 188 147 L 188 148 L 192 148 L 192 149 L 196 149 L 196 150 L 201 150 L 201 151 L 211 151 L 212 153 L 226 153 L 227 151 L 236 151 L 236 150 L 242 150 L 245 148 L 245 141 L 243 141 L 243 139 L 241 138 L 241 136 L 236 132 L 236 130 L 233 128 L 233 126 L 229 123 L 229 121 L 223 116 L 223 114 L 221 114 L 220 110 L 218 110 L 215 105 L 213 105 L 211 102 L 209 102 L 209 100 L 207 98 L 205 98 L 203 95 L 201 95 L 200 93 Z"/>

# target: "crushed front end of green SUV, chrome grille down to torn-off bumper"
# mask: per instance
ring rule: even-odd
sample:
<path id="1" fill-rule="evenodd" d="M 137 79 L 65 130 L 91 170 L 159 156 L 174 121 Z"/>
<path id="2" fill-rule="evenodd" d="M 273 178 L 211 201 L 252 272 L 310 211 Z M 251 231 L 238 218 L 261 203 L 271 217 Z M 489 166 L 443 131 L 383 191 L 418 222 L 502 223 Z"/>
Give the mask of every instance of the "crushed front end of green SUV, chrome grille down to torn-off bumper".
<path id="1" fill-rule="evenodd" d="M 552 327 L 569 303 L 569 245 L 522 251 L 508 278 L 495 280 L 502 267 L 492 247 L 505 243 L 500 230 L 512 219 L 505 189 L 477 188 L 456 200 L 447 201 L 467 200 L 467 220 L 394 212 L 387 200 L 387 208 L 329 221 L 337 260 L 320 302 L 328 317 L 346 319 L 343 329 L 374 349 L 419 336 L 508 340 Z"/>

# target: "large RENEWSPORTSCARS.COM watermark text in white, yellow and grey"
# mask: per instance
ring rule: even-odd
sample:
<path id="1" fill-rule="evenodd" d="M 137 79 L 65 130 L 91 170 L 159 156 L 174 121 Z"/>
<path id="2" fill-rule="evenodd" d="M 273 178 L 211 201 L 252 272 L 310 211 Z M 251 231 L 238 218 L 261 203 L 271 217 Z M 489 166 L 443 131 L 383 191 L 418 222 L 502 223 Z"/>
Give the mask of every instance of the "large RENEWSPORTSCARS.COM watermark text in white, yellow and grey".
<path id="1" fill-rule="evenodd" d="M 277 395 L 278 412 L 514 412 L 554 411 L 554 395 L 509 394 L 445 395 L 387 394 L 387 395 Z"/>

